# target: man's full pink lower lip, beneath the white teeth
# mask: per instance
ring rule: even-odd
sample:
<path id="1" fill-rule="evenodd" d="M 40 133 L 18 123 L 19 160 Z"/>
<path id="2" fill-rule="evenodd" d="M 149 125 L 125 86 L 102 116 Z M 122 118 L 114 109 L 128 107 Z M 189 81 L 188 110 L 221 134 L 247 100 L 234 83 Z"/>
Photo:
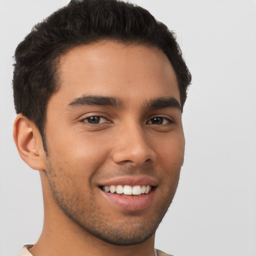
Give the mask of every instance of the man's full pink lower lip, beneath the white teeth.
<path id="1" fill-rule="evenodd" d="M 122 196 L 120 194 L 112 194 L 100 189 L 103 196 L 109 200 L 111 204 L 130 211 L 141 210 L 147 207 L 154 198 L 154 190 L 155 189 L 152 189 L 148 194 L 141 194 L 139 196 Z"/>

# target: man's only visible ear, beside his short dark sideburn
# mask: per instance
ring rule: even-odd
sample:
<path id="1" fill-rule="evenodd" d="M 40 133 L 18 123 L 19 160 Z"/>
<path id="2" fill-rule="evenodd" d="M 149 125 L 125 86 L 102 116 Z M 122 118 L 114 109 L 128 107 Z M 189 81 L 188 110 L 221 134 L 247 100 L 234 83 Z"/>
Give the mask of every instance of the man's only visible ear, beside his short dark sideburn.
<path id="1" fill-rule="evenodd" d="M 44 170 L 45 152 L 35 124 L 18 114 L 13 124 L 13 138 L 22 160 L 32 169 Z"/>

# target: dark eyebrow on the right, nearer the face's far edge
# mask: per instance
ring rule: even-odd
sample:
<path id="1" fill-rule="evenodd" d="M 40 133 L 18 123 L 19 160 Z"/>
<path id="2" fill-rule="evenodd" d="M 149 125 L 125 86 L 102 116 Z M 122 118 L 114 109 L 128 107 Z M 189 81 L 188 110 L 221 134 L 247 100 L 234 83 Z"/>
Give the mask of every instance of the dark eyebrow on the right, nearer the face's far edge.
<path id="1" fill-rule="evenodd" d="M 177 108 L 181 111 L 179 102 L 174 97 L 159 97 L 145 102 L 146 108 Z"/>

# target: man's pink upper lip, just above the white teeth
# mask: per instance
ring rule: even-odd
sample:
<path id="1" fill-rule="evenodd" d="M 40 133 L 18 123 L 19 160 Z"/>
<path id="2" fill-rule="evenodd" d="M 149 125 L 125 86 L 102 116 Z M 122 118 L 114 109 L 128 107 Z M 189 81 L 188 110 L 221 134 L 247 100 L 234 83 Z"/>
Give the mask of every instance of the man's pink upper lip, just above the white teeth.
<path id="1" fill-rule="evenodd" d="M 136 175 L 136 176 L 120 176 L 114 177 L 98 183 L 99 186 L 107 185 L 150 185 L 157 186 L 157 181 L 153 177 L 147 175 Z"/>

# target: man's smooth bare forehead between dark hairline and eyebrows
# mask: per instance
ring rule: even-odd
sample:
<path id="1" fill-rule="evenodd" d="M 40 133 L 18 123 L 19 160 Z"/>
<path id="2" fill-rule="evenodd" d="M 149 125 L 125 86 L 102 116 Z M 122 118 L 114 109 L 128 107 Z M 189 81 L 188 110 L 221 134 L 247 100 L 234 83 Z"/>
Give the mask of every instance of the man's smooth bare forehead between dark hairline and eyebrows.
<path id="1" fill-rule="evenodd" d="M 82 94 L 130 101 L 171 95 L 179 101 L 171 63 L 154 46 L 114 41 L 79 45 L 61 57 L 59 73 L 60 88 L 53 98 L 61 102 Z"/>

